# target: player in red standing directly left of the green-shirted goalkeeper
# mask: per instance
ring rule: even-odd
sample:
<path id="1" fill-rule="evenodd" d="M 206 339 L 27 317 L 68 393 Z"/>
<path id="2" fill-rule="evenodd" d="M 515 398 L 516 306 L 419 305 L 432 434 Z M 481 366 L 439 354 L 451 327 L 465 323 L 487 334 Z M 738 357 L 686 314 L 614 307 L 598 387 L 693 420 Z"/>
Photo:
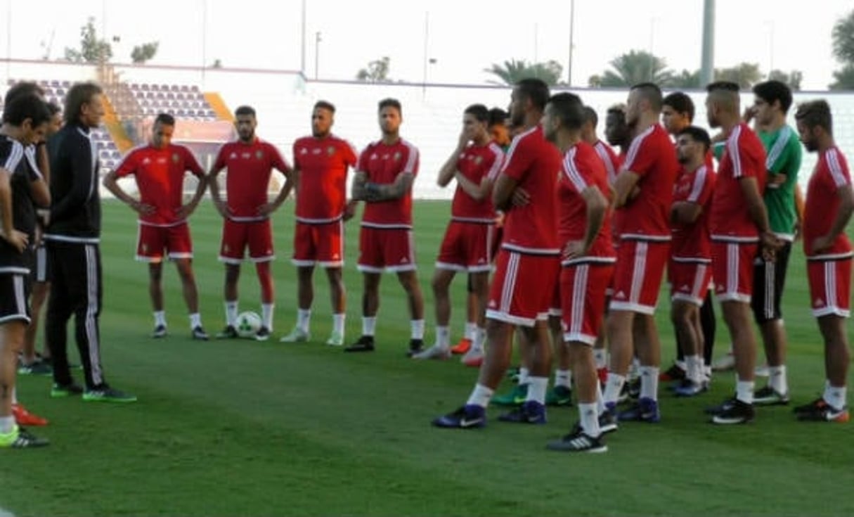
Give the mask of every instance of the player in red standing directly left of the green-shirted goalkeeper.
<path id="1" fill-rule="evenodd" d="M 756 133 L 741 120 L 739 85 L 719 81 L 707 85 L 706 91 L 709 126 L 720 127 L 726 138 L 709 215 L 712 276 L 733 343 L 738 375 L 735 397 L 709 408 L 709 413 L 716 424 L 741 424 L 753 420 L 753 259 L 760 244 L 766 256 L 773 255 L 777 238 L 770 231 L 762 201 L 765 149 Z"/>

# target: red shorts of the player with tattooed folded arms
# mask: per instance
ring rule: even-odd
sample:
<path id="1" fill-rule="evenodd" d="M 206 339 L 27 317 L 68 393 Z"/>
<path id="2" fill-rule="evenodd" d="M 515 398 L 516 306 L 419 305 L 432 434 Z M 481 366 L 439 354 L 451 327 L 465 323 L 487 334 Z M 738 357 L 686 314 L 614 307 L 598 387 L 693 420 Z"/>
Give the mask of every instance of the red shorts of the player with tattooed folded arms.
<path id="1" fill-rule="evenodd" d="M 412 230 L 362 226 L 356 267 L 364 273 L 414 271 L 415 243 L 412 242 Z"/>

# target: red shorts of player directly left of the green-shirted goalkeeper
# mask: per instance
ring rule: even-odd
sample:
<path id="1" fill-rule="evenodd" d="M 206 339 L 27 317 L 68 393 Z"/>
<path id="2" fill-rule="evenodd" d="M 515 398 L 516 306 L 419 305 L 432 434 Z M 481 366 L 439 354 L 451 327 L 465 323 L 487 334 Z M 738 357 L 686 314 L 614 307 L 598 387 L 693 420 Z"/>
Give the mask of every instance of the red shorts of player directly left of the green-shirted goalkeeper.
<path id="1" fill-rule="evenodd" d="M 750 303 L 753 259 L 759 244 L 711 241 L 711 271 L 718 302 Z"/>

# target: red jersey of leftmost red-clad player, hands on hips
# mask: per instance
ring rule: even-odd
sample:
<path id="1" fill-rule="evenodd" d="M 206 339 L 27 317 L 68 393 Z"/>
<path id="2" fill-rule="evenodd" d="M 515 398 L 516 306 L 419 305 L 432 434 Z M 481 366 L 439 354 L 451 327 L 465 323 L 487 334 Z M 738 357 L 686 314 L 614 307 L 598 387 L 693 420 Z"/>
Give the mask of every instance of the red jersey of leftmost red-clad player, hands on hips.
<path id="1" fill-rule="evenodd" d="M 166 149 L 151 145 L 136 147 L 116 167 L 119 178 L 133 175 L 137 180 L 140 203 L 155 207 L 151 214 L 141 214 L 139 222 L 151 226 L 174 226 L 178 209 L 184 205 L 184 174 L 204 178 L 205 172 L 193 153 L 183 145 L 170 144 Z"/>

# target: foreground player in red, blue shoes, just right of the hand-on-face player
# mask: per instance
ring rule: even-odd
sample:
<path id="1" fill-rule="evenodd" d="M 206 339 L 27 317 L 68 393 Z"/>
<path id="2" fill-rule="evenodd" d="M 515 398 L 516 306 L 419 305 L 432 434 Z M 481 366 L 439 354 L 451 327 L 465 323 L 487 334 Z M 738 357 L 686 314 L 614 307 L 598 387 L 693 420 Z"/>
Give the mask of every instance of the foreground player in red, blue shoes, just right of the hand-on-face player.
<path id="1" fill-rule="evenodd" d="M 550 367 L 548 306 L 559 271 L 558 214 L 555 187 L 560 155 L 543 137 L 539 122 L 548 100 L 540 79 L 522 79 L 513 88 L 511 117 L 523 131 L 513 139 L 492 193 L 496 209 L 506 211 L 504 240 L 489 288 L 489 350 L 474 391 L 465 406 L 433 420 L 434 426 L 483 427 L 486 407 L 510 364 L 513 329 L 521 329 L 522 354 L 529 367 L 524 404 L 500 420 L 546 423 Z"/>

